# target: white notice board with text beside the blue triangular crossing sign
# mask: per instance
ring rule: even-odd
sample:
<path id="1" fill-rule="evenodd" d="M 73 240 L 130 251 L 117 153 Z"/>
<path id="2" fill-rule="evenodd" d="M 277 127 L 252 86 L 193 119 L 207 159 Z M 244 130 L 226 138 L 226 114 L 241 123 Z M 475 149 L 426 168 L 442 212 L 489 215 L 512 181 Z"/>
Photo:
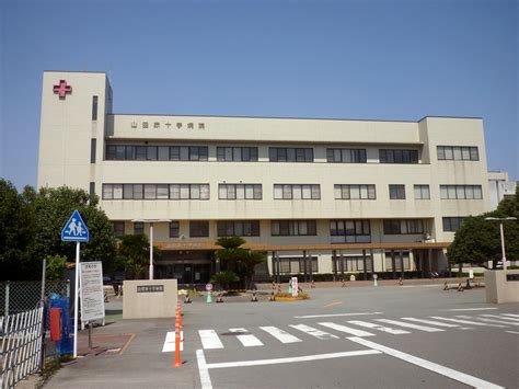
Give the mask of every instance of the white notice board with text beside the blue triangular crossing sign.
<path id="1" fill-rule="evenodd" d="M 101 262 L 81 263 L 81 321 L 104 319 L 103 265 Z"/>

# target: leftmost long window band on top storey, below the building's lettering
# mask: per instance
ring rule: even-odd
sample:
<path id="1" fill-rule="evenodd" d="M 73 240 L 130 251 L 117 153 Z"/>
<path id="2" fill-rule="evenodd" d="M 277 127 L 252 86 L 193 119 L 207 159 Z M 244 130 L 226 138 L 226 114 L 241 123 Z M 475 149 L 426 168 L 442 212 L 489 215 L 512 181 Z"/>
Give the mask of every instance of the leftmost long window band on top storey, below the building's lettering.
<path id="1" fill-rule="evenodd" d="M 125 146 L 107 145 L 107 160 L 207 161 L 207 146 Z"/>

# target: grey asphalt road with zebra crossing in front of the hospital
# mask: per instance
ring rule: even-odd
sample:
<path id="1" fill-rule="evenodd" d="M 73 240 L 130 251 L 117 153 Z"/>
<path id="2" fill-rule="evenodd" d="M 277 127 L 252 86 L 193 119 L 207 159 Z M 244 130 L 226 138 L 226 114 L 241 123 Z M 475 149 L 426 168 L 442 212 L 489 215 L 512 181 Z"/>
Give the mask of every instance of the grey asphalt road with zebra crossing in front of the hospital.
<path id="1" fill-rule="evenodd" d="M 182 368 L 174 320 L 125 320 L 120 353 L 60 369 L 49 388 L 519 388 L 519 305 L 484 289 L 312 289 L 287 302 L 184 305 Z M 200 332 L 201 331 L 201 332 Z M 203 342 L 204 339 L 204 342 Z"/>

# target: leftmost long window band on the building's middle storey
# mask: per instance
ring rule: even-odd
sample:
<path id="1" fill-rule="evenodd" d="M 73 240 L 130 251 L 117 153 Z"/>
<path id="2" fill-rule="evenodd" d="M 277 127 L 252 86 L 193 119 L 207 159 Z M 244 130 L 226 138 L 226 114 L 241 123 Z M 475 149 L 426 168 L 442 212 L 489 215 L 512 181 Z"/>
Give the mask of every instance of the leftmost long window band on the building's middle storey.
<path id="1" fill-rule="evenodd" d="M 103 199 L 209 199 L 209 184 L 103 184 Z"/>

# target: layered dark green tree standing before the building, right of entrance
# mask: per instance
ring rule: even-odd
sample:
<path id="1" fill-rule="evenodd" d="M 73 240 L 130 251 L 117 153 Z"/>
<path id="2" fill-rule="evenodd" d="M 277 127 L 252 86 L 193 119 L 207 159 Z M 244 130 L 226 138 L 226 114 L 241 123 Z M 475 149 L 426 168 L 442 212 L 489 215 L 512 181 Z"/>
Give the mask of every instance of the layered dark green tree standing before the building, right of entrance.
<path id="1" fill-rule="evenodd" d="M 215 256 L 226 265 L 227 270 L 235 272 L 243 281 L 244 287 L 249 288 L 254 268 L 265 261 L 265 255 L 242 248 L 245 243 L 246 241 L 241 237 L 219 238 L 216 244 L 222 249 L 217 250 Z"/>

